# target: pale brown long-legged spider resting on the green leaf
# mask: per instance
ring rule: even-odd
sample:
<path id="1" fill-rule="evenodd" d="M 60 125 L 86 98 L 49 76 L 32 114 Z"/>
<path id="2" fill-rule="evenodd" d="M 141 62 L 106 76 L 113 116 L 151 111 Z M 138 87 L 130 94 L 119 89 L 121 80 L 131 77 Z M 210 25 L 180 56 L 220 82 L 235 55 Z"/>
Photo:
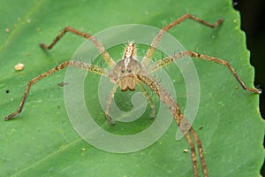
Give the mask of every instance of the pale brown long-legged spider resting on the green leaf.
<path id="1" fill-rule="evenodd" d="M 117 61 L 117 63 L 110 57 L 110 54 L 105 48 L 103 47 L 102 43 L 99 42 L 97 39 L 95 39 L 95 36 L 81 32 L 77 29 L 74 29 L 72 27 L 64 27 L 64 30 L 57 35 L 57 37 L 54 39 L 53 42 L 51 42 L 49 45 L 46 45 L 44 43 L 40 43 L 40 46 L 44 50 L 50 50 L 53 48 L 53 46 L 67 33 L 70 32 L 74 35 L 79 35 L 83 38 L 86 38 L 87 40 L 90 40 L 94 43 L 97 50 L 102 55 L 102 58 L 105 60 L 106 64 L 109 66 L 109 69 L 105 69 L 98 65 L 93 64 L 87 64 L 81 61 L 65 61 L 64 63 L 57 65 L 55 68 L 50 69 L 49 71 L 42 73 L 41 75 L 35 77 L 31 81 L 27 83 L 27 89 L 25 91 L 25 94 L 23 95 L 22 101 L 19 104 L 19 109 L 16 112 L 12 112 L 10 115 L 5 117 L 5 120 L 10 120 L 16 115 L 18 115 L 26 102 L 27 96 L 29 94 L 29 91 L 31 87 L 34 85 L 35 82 L 42 80 L 43 78 L 51 75 L 52 73 L 56 73 L 57 71 L 60 71 L 64 69 L 67 66 L 73 66 L 78 67 L 80 69 L 87 70 L 92 73 L 97 73 L 102 76 L 106 76 L 110 78 L 110 81 L 114 83 L 113 89 L 110 91 L 110 95 L 107 99 L 107 104 L 104 108 L 104 113 L 106 115 L 106 119 L 110 122 L 110 124 L 113 124 L 113 120 L 111 119 L 109 115 L 109 109 L 110 109 L 110 102 L 113 99 L 115 92 L 117 88 L 119 87 L 121 91 L 130 90 L 133 91 L 138 85 L 144 95 L 148 99 L 148 103 L 151 106 L 151 115 L 155 116 L 155 104 L 148 95 L 148 92 L 146 89 L 144 89 L 143 85 L 146 85 L 151 91 L 153 91 L 157 96 L 159 96 L 160 100 L 168 105 L 170 112 L 175 119 L 175 121 L 178 124 L 178 127 L 183 132 L 183 134 L 186 137 L 186 141 L 188 142 L 190 149 L 191 149 L 191 158 L 192 158 L 192 164 L 193 164 L 193 175 L 197 177 L 199 175 L 198 173 L 198 165 L 197 165 L 197 157 L 196 157 L 196 146 L 199 153 L 199 158 L 201 161 L 201 168 L 203 176 L 208 176 L 207 171 L 207 165 L 205 162 L 205 159 L 203 157 L 203 149 L 201 145 L 201 140 L 199 136 L 195 133 L 193 127 L 190 125 L 190 123 L 187 121 L 187 119 L 184 117 L 183 113 L 180 111 L 179 106 L 177 102 L 173 99 L 172 96 L 170 96 L 170 93 L 162 87 L 162 85 L 155 80 L 153 76 L 150 75 L 150 73 L 155 72 L 156 70 L 162 68 L 165 65 L 169 65 L 173 61 L 177 60 L 178 58 L 183 58 L 185 56 L 190 56 L 192 58 L 199 58 L 203 60 L 208 60 L 211 62 L 215 62 L 220 65 L 226 66 L 232 73 L 232 75 L 236 78 L 236 80 L 239 82 L 242 89 L 248 90 L 250 92 L 254 92 L 257 94 L 261 93 L 261 89 L 252 89 L 246 87 L 245 83 L 239 78 L 239 75 L 235 72 L 234 68 L 230 65 L 229 62 L 215 57 L 210 57 L 208 55 L 203 55 L 194 51 L 180 51 L 173 55 L 170 55 L 168 57 L 165 57 L 161 60 L 155 61 L 154 63 L 150 64 L 155 49 L 158 45 L 158 43 L 161 41 L 163 34 L 165 34 L 167 31 L 170 30 L 172 27 L 176 27 L 179 23 L 185 21 L 186 19 L 192 19 L 195 22 L 198 22 L 206 27 L 217 27 L 222 22 L 223 19 L 218 19 L 215 23 L 211 24 L 207 21 L 200 19 L 192 14 L 185 14 L 181 16 L 180 18 L 172 21 L 169 25 L 163 27 L 157 35 L 155 35 L 155 38 L 151 42 L 148 51 L 144 58 L 142 58 L 141 61 L 139 61 L 136 57 L 136 47 L 134 42 L 128 42 L 127 46 L 125 47 L 124 54 L 122 56 L 122 59 Z"/>

